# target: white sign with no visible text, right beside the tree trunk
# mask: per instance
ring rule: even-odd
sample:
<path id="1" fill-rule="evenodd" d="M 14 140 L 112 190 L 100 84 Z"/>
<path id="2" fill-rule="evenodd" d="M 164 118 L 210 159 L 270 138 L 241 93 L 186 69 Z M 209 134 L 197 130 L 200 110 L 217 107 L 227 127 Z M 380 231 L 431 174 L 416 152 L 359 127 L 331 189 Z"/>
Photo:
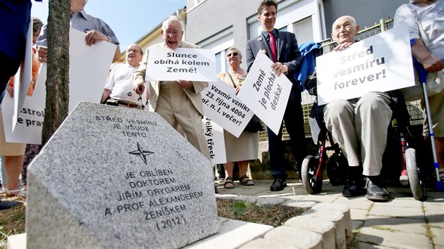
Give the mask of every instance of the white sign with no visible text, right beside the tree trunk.
<path id="1" fill-rule="evenodd" d="M 116 44 L 99 41 L 88 46 L 86 34 L 69 30 L 69 106 L 71 112 L 80 101 L 100 103 Z"/>

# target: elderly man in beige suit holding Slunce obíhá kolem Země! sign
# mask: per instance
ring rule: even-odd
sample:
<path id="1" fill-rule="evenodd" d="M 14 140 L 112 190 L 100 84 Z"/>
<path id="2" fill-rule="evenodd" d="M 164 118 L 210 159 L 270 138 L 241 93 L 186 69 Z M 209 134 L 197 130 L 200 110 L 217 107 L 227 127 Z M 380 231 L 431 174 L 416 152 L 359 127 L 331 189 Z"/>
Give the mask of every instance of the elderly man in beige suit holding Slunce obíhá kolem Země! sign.
<path id="1" fill-rule="evenodd" d="M 195 44 L 182 41 L 182 23 L 175 17 L 164 21 L 161 34 L 165 41 L 147 49 L 140 67 L 134 73 L 133 87 L 136 94 L 142 94 L 144 91 L 144 78 L 150 48 L 167 46 L 173 50 L 176 48 L 199 49 Z M 191 82 L 185 79 L 177 79 L 174 82 L 152 81 L 149 82 L 148 95 L 149 103 L 154 111 L 175 129 L 180 125 L 187 140 L 210 160 L 208 146 L 206 146 L 206 139 L 202 131 L 204 108 L 200 94 L 207 85 L 207 82 Z"/>

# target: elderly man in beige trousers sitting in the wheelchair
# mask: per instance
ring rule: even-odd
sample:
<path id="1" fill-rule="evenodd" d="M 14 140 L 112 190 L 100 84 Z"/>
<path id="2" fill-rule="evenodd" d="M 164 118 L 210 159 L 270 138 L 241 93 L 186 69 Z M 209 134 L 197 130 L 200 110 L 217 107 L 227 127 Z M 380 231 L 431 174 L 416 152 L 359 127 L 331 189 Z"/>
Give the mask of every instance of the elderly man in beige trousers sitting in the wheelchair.
<path id="1" fill-rule="evenodd" d="M 354 44 L 358 31 L 359 25 L 352 16 L 335 20 L 331 35 L 338 46 L 334 50 L 347 49 Z M 399 91 L 372 91 L 360 98 L 335 99 L 319 107 L 326 129 L 338 142 L 348 161 L 343 196 L 365 194 L 373 201 L 390 199 L 381 177 L 382 160 L 393 111 L 402 110 L 402 106 L 405 107 L 405 100 Z M 364 177 L 368 178 L 366 186 Z"/>

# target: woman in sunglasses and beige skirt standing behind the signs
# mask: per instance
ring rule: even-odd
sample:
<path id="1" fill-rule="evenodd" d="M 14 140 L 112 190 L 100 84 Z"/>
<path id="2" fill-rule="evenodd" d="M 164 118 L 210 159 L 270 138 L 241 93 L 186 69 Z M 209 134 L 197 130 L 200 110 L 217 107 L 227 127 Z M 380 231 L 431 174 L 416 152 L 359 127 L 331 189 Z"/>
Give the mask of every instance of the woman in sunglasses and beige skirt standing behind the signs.
<path id="1" fill-rule="evenodd" d="M 230 69 L 226 72 L 221 72 L 217 75 L 226 84 L 235 88 L 235 94 L 238 95 L 242 84 L 244 83 L 247 71 L 240 68 L 242 54 L 239 49 L 231 47 L 226 53 L 226 58 Z M 247 177 L 248 161 L 257 159 L 257 152 L 259 150 L 259 132 L 242 132 L 239 138 L 233 136 L 229 132 L 223 133 L 225 139 L 225 150 L 227 163 L 223 164 L 225 168 L 225 183 L 223 187 L 226 189 L 233 189 L 235 187 L 233 182 L 233 167 L 235 162 L 239 165 L 239 183 L 245 186 L 254 185 L 254 181 Z"/>

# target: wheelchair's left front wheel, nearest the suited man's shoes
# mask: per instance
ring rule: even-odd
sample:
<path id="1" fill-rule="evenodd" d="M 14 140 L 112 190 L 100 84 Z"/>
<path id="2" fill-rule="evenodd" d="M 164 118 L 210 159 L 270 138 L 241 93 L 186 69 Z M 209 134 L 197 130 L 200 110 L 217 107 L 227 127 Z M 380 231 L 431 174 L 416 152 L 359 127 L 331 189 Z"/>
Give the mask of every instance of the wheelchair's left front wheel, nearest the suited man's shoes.
<path id="1" fill-rule="evenodd" d="M 316 178 L 316 170 L 319 167 L 319 158 L 315 158 L 313 155 L 307 155 L 302 162 L 302 182 L 304 183 L 305 190 L 309 194 L 319 193 L 322 189 L 322 179 Z"/>

